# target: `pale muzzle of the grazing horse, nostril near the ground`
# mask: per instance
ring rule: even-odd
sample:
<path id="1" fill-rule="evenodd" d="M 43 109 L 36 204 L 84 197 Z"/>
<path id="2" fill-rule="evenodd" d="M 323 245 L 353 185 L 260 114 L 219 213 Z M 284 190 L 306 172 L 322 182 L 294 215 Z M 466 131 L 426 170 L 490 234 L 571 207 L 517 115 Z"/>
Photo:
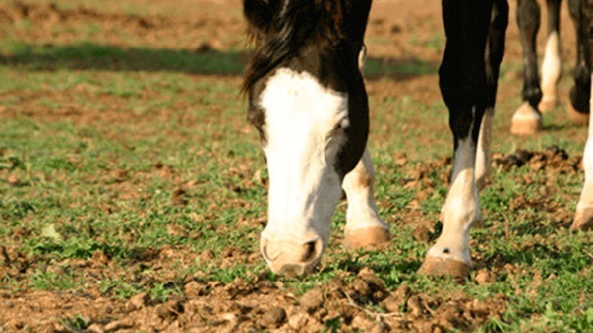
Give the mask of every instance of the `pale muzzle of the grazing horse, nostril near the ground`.
<path id="1" fill-rule="evenodd" d="M 261 254 L 274 273 L 286 276 L 308 274 L 319 264 L 325 250 L 321 238 L 308 241 L 261 238 Z"/>

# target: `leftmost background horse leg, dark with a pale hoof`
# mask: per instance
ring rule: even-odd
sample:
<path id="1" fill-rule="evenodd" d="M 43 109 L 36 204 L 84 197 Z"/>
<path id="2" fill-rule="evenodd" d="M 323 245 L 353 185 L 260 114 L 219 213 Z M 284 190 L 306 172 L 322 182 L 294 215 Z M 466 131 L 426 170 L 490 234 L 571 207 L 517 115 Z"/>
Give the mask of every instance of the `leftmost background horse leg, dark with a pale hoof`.
<path id="1" fill-rule="evenodd" d="M 517 24 L 523 47 L 523 103 L 511 119 L 511 133 L 534 134 L 542 127 L 537 107 L 541 101 L 539 74 L 537 73 L 536 37 L 539 30 L 540 9 L 536 0 L 517 1 Z"/>

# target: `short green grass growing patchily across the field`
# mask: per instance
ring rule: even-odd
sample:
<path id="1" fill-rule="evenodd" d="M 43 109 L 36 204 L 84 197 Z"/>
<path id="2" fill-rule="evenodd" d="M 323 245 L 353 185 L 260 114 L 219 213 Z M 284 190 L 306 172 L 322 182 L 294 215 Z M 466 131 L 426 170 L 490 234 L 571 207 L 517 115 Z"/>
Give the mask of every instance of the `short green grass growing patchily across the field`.
<path id="1" fill-rule="evenodd" d="M 165 299 L 181 292 L 175 283 L 188 275 L 228 283 L 252 279 L 265 270 L 263 259 L 221 265 L 221 253 L 228 248 L 258 255 L 263 225 L 253 221 L 265 219 L 266 189 L 257 181 L 265 177 L 265 165 L 257 132 L 245 120 L 245 101 L 237 94 L 241 54 L 23 43 L 4 45 L 2 52 L 8 59 L 18 59 L 17 65 L 0 65 L 0 107 L 16 110 L 15 117 L 0 121 L 3 246 L 26 252 L 31 261 L 89 259 L 100 251 L 122 270 L 168 245 L 212 252 L 208 261 L 174 270 L 172 283 L 159 279 L 137 283 L 125 275 L 97 282 L 101 292 L 124 299 L 140 291 L 149 292 L 152 299 Z M 117 67 L 113 59 L 118 60 Z M 436 68 L 422 60 L 389 66 L 371 60 L 368 71 L 377 80 L 390 80 L 394 73 L 432 75 L 436 84 Z M 516 68 L 516 64 L 508 66 Z M 501 84 L 519 87 L 519 81 L 512 79 Z M 567 85 L 570 82 L 565 79 L 564 90 Z M 77 89 L 86 94 L 80 96 Z M 48 110 L 59 111 L 72 103 L 93 114 L 119 112 L 122 120 L 80 121 L 82 116 L 67 114 L 47 117 Z M 591 330 L 590 234 L 568 232 L 545 210 L 514 210 L 510 204 L 525 194 L 574 211 L 582 177 L 554 175 L 558 190 L 543 197 L 538 186 L 549 177 L 545 172 L 495 169 L 492 184 L 481 194 L 486 225 L 472 231 L 473 251 L 486 269 L 508 263 L 521 274 L 505 274 L 486 285 L 428 279 L 416 274 L 428 244 L 414 239 L 406 221 L 416 190 L 405 189 L 402 183 L 419 163 L 450 156 L 445 107 L 442 102 L 426 104 L 395 94 L 381 101 L 371 96 L 370 105 L 376 196 L 381 214 L 392 227 L 391 245 L 383 252 L 343 252 L 336 241 L 344 224 L 344 205 L 340 205 L 324 270 L 298 280 L 271 273 L 269 278 L 284 281 L 289 291 L 298 294 L 342 276 L 352 265 L 366 266 L 393 290 L 405 283 L 416 292 L 464 290 L 477 298 L 504 294 L 507 313 L 501 321 L 481 327 L 482 332 Z M 569 125 L 561 110 L 547 116 L 545 134 L 510 137 L 507 126 L 516 105 L 519 97 L 499 101 L 495 152 L 559 145 L 571 156 L 581 154 L 586 130 Z M 396 152 L 406 152 L 409 163 L 396 166 Z M 163 169 L 169 172 L 162 174 Z M 19 179 L 17 185 L 8 181 L 9 174 Z M 447 189 L 438 174 L 431 176 L 436 188 L 421 203 L 421 212 L 436 223 Z M 536 181 L 518 183 L 516 179 L 523 176 Z M 190 182 L 194 185 L 183 194 L 187 204 L 174 204 L 173 192 Z M 172 233 L 170 225 L 184 232 Z M 150 268 L 141 273 L 158 274 Z M 545 282 L 534 283 L 537 279 Z M 0 287 L 81 290 L 87 283 L 75 270 L 59 278 L 39 270 L 28 275 L 28 281 L 3 278 Z M 72 327 L 86 325 L 81 318 L 64 320 Z"/>

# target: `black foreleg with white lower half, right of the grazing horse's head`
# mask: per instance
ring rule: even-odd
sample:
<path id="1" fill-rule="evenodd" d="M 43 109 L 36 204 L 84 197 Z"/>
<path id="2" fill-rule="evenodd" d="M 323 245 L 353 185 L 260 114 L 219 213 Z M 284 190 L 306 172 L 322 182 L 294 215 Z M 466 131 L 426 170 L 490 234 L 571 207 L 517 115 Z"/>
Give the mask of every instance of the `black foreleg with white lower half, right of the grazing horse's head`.
<path id="1" fill-rule="evenodd" d="M 470 228 L 480 219 L 476 150 L 484 150 L 483 163 L 488 144 L 478 148 L 479 133 L 486 110 L 494 108 L 507 14 L 504 0 L 443 1 L 447 43 L 439 76 L 449 109 L 454 162 L 443 206 L 443 232 L 426 254 L 419 271 L 423 274 L 467 276 L 472 268 Z M 479 174 L 483 176 L 482 171 Z"/>

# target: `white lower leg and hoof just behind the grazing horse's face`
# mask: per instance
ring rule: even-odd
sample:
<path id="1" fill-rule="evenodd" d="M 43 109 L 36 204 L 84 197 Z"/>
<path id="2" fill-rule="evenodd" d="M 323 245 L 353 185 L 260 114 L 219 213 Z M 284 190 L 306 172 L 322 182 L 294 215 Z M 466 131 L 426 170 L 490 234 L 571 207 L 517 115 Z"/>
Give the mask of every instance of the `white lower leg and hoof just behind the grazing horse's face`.
<path id="1" fill-rule="evenodd" d="M 383 222 L 373 198 L 374 168 L 368 149 L 348 172 L 342 188 L 348 198 L 345 245 L 348 248 L 375 248 L 389 241 L 389 227 Z"/>

